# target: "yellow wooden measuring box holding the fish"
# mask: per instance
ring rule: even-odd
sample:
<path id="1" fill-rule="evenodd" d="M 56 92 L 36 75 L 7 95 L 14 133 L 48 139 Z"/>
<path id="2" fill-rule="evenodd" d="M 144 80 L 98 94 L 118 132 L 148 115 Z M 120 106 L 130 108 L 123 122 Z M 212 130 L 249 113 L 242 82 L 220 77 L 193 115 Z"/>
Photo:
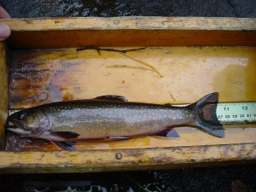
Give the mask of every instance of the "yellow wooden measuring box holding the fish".
<path id="1" fill-rule="evenodd" d="M 5 150 L 0 151 L 0 172 L 131 171 L 256 160 L 255 104 L 252 112 L 251 104 L 243 103 L 256 102 L 255 21 L 193 17 L 1 20 L 12 30 L 9 44 L 18 49 L 0 43 L 0 147 L 6 141 Z M 147 49 L 126 56 L 76 50 L 90 45 Z M 21 138 L 5 129 L 10 110 L 49 102 L 115 94 L 129 102 L 178 105 L 194 103 L 211 92 L 219 93 L 217 114 L 224 138 L 185 126 L 177 128 L 178 139 L 81 142 L 76 143 L 76 151 L 68 152 L 49 141 Z M 230 104 L 234 102 L 242 103 Z"/>

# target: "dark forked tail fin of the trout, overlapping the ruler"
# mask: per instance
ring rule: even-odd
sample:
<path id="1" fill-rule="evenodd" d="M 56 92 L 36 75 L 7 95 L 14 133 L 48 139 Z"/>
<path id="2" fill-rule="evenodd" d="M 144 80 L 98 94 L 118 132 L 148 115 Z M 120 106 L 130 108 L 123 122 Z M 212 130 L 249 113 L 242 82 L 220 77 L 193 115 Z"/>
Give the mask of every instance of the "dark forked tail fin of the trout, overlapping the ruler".
<path id="1" fill-rule="evenodd" d="M 190 107 L 196 111 L 195 126 L 200 127 L 204 131 L 216 137 L 224 137 L 223 125 L 218 121 L 216 109 L 218 105 L 218 93 L 211 93 L 204 96 L 198 102 L 195 102 Z"/>

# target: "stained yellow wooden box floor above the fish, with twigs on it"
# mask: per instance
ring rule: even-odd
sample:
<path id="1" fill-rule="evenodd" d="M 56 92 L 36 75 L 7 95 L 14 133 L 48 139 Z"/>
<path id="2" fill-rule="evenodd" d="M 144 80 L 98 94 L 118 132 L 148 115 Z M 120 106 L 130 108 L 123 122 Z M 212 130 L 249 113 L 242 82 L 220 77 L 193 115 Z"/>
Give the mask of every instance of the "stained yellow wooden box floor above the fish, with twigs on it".
<path id="1" fill-rule="evenodd" d="M 192 103 L 214 91 L 220 102 L 253 102 L 255 53 L 255 47 L 148 47 L 127 53 L 129 57 L 96 50 L 15 51 L 9 108 L 102 95 L 125 96 L 131 102 Z"/>

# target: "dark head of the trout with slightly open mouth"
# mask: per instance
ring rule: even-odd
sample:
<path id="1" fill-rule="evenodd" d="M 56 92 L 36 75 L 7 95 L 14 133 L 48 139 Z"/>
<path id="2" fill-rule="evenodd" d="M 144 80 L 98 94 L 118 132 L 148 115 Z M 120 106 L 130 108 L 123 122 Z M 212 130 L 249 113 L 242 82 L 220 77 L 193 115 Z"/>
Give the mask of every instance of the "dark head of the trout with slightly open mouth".
<path id="1" fill-rule="evenodd" d="M 25 109 L 13 113 L 8 118 L 16 127 L 7 128 L 21 136 L 33 137 L 50 129 L 49 118 L 40 109 Z"/>

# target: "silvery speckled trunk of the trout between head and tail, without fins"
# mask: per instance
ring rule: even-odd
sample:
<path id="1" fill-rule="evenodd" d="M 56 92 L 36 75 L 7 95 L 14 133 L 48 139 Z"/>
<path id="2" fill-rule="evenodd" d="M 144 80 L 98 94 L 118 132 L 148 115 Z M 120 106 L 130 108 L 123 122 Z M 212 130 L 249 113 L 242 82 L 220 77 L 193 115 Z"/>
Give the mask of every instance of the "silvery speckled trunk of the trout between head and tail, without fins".
<path id="1" fill-rule="evenodd" d="M 87 102 L 86 105 L 42 108 L 51 119 L 52 131 L 75 131 L 83 138 L 130 137 L 166 130 L 166 126 L 182 125 L 195 116 L 186 108 L 133 102 Z M 99 130 L 99 131 L 96 131 Z"/>

